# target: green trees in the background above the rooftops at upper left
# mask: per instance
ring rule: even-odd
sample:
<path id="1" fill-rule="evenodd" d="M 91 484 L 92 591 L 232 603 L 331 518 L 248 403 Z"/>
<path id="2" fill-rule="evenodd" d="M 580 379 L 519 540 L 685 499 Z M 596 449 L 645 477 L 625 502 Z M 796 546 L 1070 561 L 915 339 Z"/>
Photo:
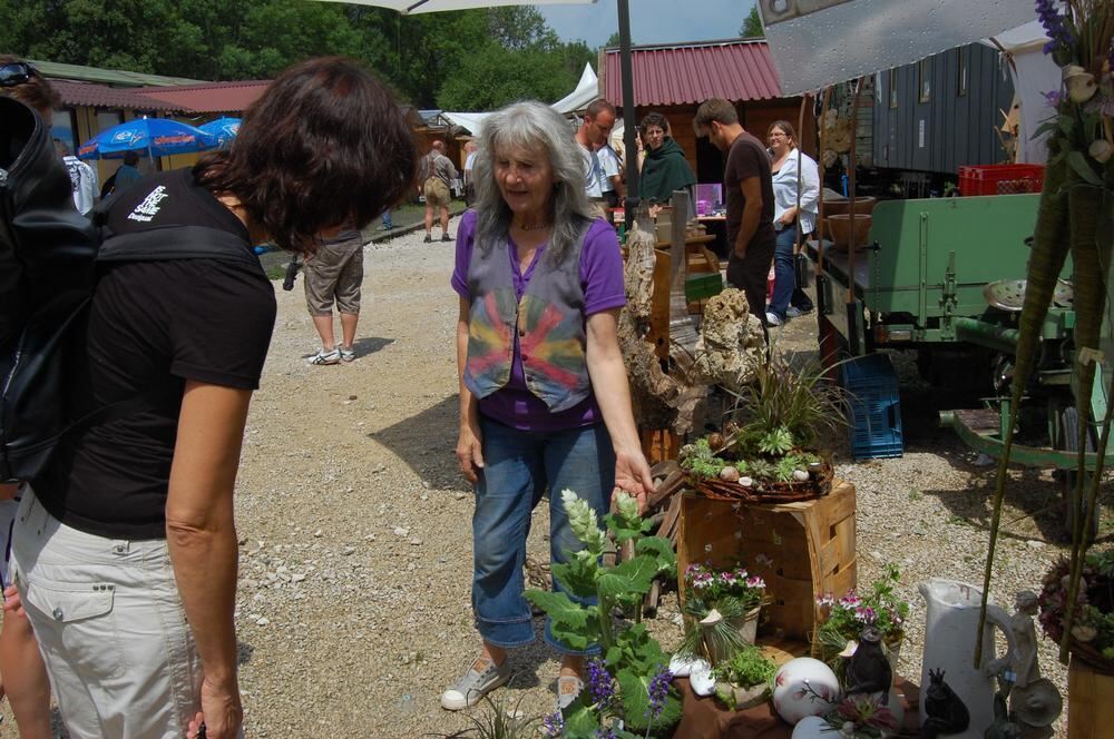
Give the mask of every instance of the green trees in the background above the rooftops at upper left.
<path id="1" fill-rule="evenodd" d="M 418 106 L 465 110 L 556 100 L 596 61 L 532 7 L 401 16 L 304 0 L 7 0 L 0 49 L 199 80 L 268 79 L 311 57 L 345 55 Z"/>

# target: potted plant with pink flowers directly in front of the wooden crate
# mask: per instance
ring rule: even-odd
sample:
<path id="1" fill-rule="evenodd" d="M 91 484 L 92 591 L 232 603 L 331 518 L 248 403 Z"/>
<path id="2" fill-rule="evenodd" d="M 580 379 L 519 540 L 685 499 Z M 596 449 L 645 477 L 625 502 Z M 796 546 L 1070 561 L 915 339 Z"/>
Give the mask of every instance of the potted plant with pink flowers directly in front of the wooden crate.
<path id="1" fill-rule="evenodd" d="M 753 644 L 765 600 L 765 581 L 742 566 L 716 570 L 690 564 L 684 572 L 684 657 L 703 657 L 715 666 Z"/>

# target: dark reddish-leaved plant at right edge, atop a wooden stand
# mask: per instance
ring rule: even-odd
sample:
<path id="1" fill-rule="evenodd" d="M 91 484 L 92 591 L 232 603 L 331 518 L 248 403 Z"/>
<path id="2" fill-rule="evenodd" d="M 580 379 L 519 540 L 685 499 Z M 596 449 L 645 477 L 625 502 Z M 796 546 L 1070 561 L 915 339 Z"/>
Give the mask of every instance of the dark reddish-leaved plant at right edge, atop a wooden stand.
<path id="1" fill-rule="evenodd" d="M 1057 642 L 1064 635 L 1069 574 L 1071 562 L 1063 558 L 1048 570 L 1037 597 L 1040 627 Z M 1114 673 L 1114 549 L 1084 558 L 1069 643 L 1073 656 Z"/>

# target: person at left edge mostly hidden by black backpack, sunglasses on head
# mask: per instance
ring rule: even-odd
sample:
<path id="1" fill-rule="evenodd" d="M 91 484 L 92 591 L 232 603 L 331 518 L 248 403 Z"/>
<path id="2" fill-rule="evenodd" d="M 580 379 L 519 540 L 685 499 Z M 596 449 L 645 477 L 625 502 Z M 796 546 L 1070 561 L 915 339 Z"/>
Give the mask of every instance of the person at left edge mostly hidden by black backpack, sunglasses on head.
<path id="1" fill-rule="evenodd" d="M 59 102 L 58 93 L 35 65 L 8 55 L 0 55 L 0 96 L 31 108 L 48 127 Z M 0 696 L 7 694 L 22 739 L 51 739 L 50 682 L 35 631 L 8 569 L 20 492 L 17 484 L 0 483 L 0 587 L 6 589 L 0 629 Z"/>

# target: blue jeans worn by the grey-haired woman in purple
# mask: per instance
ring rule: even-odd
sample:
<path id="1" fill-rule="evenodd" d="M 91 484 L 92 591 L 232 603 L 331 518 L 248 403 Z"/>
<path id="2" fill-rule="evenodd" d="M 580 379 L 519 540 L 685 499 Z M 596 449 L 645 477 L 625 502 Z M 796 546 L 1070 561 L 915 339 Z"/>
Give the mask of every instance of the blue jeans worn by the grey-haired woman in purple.
<path id="1" fill-rule="evenodd" d="M 530 605 L 522 597 L 522 565 L 530 513 L 549 491 L 549 555 L 568 561 L 567 552 L 584 545 L 569 528 L 560 491 L 566 487 L 603 516 L 615 486 L 615 452 L 604 425 L 556 432 L 524 432 L 480 416 L 483 470 L 476 485 L 472 516 L 472 610 L 480 635 L 496 647 L 520 647 L 534 641 Z M 554 589 L 560 583 L 554 578 Z M 569 594 L 585 605 L 595 602 Z M 546 641 L 565 654 L 583 652 L 554 638 L 546 620 Z"/>

